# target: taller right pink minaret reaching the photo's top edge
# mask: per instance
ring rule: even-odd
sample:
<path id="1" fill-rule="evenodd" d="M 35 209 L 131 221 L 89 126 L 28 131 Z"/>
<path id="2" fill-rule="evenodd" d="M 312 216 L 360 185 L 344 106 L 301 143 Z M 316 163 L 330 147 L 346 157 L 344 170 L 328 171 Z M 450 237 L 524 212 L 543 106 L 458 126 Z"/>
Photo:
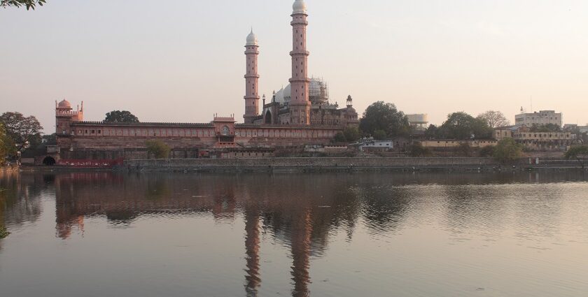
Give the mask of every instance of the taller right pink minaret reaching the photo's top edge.
<path id="1" fill-rule="evenodd" d="M 308 26 L 307 8 L 304 0 L 296 0 L 292 6 L 292 33 L 293 48 L 292 56 L 292 78 L 291 99 L 290 99 L 290 124 L 310 124 L 310 101 L 308 99 L 309 78 L 308 78 L 308 56 L 306 44 L 306 31 Z"/>

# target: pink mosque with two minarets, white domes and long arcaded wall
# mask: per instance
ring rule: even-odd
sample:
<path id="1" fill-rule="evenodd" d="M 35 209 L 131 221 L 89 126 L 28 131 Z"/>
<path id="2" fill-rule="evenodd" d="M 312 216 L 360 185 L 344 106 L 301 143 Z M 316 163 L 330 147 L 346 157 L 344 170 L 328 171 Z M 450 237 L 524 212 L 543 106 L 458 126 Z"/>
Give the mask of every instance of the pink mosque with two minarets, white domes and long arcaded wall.
<path id="1" fill-rule="evenodd" d="M 172 158 L 197 158 L 203 153 L 232 152 L 232 157 L 267 157 L 275 147 L 326 145 L 347 126 L 357 126 L 358 113 L 351 96 L 339 108 L 329 101 L 328 85 L 309 78 L 307 50 L 308 13 L 304 0 L 295 0 L 291 15 L 293 33 L 292 77 L 274 92 L 269 102 L 260 98 L 258 38 L 246 38 L 244 123 L 235 117 L 218 117 L 209 123 L 87 122 L 81 108 L 69 101 L 55 102 L 57 147 L 49 161 L 79 159 L 141 159 L 148 157 L 146 140 L 161 139 L 172 148 Z M 260 99 L 261 108 L 260 108 Z"/>

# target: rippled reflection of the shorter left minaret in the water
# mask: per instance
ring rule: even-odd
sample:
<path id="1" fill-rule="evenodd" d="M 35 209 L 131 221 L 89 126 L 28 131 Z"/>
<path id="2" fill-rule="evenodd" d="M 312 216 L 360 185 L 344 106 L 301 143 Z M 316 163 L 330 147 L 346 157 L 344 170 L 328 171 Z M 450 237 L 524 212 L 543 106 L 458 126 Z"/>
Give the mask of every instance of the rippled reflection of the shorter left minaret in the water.
<path id="1" fill-rule="evenodd" d="M 261 284 L 259 277 L 259 213 L 255 210 L 245 210 L 245 248 L 247 254 L 247 296 L 257 296 Z"/>

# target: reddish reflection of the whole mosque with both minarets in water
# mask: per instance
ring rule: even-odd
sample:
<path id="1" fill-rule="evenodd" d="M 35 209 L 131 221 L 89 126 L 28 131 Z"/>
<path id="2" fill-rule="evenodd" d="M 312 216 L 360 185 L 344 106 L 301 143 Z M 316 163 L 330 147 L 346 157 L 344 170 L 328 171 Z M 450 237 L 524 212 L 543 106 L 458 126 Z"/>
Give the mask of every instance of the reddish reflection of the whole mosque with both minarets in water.
<path id="1" fill-rule="evenodd" d="M 241 212 L 246 231 L 248 295 L 256 296 L 262 281 L 260 230 L 263 228 L 290 247 L 293 296 L 307 296 L 311 256 L 323 253 L 332 224 L 348 226 L 349 236 L 353 233 L 358 210 L 349 205 L 355 205 L 351 201 L 356 195 L 351 189 L 337 189 L 337 180 L 332 176 L 304 178 L 303 184 L 294 182 L 288 175 L 269 177 L 269 180 L 272 180 L 269 184 L 281 186 L 267 187 L 256 178 L 221 175 L 197 179 L 193 175 L 57 175 L 57 236 L 66 239 L 74 229 L 83 231 L 84 217 L 92 215 L 104 215 L 113 224 L 132 224 L 141 215 L 169 212 L 207 212 L 218 222 L 225 222 Z M 304 196 L 304 189 L 312 189 L 313 196 Z"/>

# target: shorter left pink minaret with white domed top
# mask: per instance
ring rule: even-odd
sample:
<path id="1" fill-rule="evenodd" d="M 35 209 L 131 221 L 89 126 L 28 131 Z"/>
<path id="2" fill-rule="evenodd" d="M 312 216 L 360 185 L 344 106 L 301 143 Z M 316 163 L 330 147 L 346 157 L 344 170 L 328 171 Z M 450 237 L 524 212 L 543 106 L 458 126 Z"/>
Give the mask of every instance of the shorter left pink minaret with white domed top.
<path id="1" fill-rule="evenodd" d="M 245 74 L 245 124 L 253 124 L 253 119 L 259 115 L 259 74 L 257 68 L 259 45 L 257 36 L 251 33 L 247 36 L 245 45 L 247 57 L 247 72 Z"/>

